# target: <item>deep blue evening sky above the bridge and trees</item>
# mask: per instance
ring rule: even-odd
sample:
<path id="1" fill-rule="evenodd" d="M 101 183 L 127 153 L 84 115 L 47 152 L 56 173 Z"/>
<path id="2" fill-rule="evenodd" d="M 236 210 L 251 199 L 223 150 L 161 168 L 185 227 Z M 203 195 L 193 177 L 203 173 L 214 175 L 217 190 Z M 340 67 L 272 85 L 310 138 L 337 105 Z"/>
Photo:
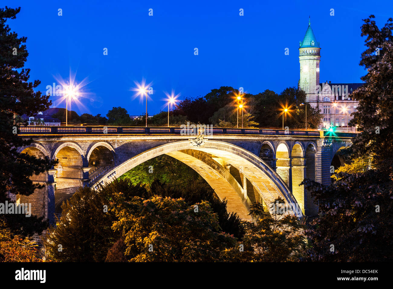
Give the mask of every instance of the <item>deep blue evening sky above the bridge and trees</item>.
<path id="1" fill-rule="evenodd" d="M 134 81 L 152 82 L 149 114 L 166 110 L 164 91 L 204 96 L 220 86 L 257 94 L 297 86 L 299 41 L 311 26 L 321 45 L 320 80 L 361 82 L 362 19 L 382 27 L 393 17 L 393 2 L 356 1 L 0 1 L 22 10 L 7 23 L 28 37 L 26 67 L 39 89 L 57 79 L 87 79 L 79 113 L 105 115 L 125 107 L 145 111 L 134 99 Z M 58 10 L 62 9 L 62 16 Z M 153 16 L 149 16 L 149 8 Z M 244 16 L 239 16 L 239 9 Z M 330 9 L 334 8 L 334 16 Z M 390 14 L 389 14 L 390 13 Z M 108 48 L 108 55 L 103 55 Z M 199 55 L 194 55 L 198 48 Z M 284 54 L 289 48 L 289 55 Z M 56 101 L 58 98 L 53 98 Z M 91 101 L 94 99 L 94 101 Z M 57 105 L 65 107 L 65 103 Z"/>

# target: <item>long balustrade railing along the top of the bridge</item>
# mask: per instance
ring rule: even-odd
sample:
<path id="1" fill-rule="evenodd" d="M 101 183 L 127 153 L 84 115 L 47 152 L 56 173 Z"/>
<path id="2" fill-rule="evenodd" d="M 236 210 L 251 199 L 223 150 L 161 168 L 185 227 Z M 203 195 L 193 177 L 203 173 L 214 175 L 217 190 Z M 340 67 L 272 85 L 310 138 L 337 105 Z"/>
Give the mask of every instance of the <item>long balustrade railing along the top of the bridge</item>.
<path id="1" fill-rule="evenodd" d="M 22 126 L 19 134 L 180 134 L 197 135 L 197 127 L 114 127 L 114 126 Z M 277 135 L 277 136 L 327 136 L 323 131 L 290 131 L 281 129 L 237 129 L 226 127 L 207 127 L 205 134 L 243 134 L 243 135 Z M 335 136 L 354 137 L 355 133 L 335 133 Z"/>

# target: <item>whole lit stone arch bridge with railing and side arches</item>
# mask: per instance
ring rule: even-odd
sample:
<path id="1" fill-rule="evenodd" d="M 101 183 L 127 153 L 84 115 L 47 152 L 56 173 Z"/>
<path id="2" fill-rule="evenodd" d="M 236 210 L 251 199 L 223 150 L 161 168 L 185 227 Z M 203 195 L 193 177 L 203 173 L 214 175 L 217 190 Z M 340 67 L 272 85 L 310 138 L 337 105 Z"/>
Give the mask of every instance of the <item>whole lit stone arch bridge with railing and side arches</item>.
<path id="1" fill-rule="evenodd" d="M 351 144 L 353 133 L 328 136 L 323 131 L 167 127 L 20 127 L 33 143 L 19 152 L 59 160 L 54 168 L 34 175 L 45 184 L 18 202 L 32 204 L 32 214 L 51 223 L 64 199 L 79 186 L 96 187 L 159 155 L 172 156 L 193 168 L 228 200 L 228 211 L 250 219 L 249 207 L 261 202 L 269 209 L 282 197 L 293 214 L 316 215 L 317 208 L 300 182 L 305 178 L 331 182 L 336 152 Z"/>

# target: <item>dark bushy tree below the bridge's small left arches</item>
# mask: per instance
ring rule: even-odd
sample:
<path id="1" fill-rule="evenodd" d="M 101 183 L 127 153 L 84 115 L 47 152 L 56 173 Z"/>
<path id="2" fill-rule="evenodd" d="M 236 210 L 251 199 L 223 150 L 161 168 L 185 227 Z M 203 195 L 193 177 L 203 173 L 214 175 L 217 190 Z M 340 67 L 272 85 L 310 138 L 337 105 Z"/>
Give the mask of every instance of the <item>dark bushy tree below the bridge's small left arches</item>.
<path id="1" fill-rule="evenodd" d="M 116 220 L 108 208 L 111 197 L 111 191 L 97 193 L 84 187 L 64 202 L 57 225 L 45 235 L 48 256 L 56 261 L 105 261 L 108 250 L 120 237 L 111 228 Z"/>

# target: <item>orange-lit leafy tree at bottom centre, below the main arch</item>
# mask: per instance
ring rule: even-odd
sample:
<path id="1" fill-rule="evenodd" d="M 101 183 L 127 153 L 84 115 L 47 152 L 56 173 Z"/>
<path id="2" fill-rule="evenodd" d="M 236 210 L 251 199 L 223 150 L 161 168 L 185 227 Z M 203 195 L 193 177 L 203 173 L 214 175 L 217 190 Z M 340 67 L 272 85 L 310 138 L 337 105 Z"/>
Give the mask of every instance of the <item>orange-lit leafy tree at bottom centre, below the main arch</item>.
<path id="1" fill-rule="evenodd" d="M 189 206 L 183 199 L 154 196 L 116 199 L 113 228 L 125 237 L 129 261 L 220 261 L 220 252 L 236 239 L 217 233 L 219 224 L 208 202 Z"/>

